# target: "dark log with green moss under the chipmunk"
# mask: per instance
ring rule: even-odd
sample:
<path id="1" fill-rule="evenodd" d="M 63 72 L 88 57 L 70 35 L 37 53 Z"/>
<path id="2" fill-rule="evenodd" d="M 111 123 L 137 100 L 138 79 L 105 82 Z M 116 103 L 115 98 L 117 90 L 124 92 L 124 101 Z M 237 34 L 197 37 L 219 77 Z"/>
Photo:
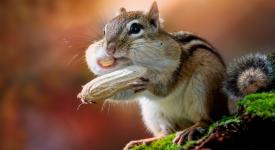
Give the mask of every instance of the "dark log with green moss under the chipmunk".
<path id="1" fill-rule="evenodd" d="M 172 143 L 175 134 L 134 150 L 274 149 L 275 93 L 257 93 L 238 102 L 238 114 L 214 122 L 197 140 Z"/>

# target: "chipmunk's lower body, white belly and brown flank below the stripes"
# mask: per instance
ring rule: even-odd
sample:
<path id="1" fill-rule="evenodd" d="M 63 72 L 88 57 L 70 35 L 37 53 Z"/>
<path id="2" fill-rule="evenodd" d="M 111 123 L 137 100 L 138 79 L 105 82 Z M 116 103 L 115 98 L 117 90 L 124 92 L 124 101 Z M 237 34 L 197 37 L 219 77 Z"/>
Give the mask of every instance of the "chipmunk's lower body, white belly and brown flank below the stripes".
<path id="1" fill-rule="evenodd" d="M 148 91 L 139 97 L 143 121 L 155 136 L 174 133 L 201 120 L 210 121 L 226 111 L 226 100 L 220 92 L 224 65 L 212 52 L 195 51 L 177 77 L 174 89 L 165 97 Z"/>

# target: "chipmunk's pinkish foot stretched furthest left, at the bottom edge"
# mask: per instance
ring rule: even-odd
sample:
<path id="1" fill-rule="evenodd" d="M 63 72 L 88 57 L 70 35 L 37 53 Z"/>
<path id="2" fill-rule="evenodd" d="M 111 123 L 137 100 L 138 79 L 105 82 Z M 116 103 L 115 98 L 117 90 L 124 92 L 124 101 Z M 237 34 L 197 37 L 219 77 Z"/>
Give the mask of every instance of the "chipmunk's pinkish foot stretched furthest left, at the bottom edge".
<path id="1" fill-rule="evenodd" d="M 152 138 L 147 138 L 147 139 L 141 139 L 141 140 L 135 140 L 135 141 L 130 141 L 124 148 L 123 150 L 129 150 L 131 148 L 133 148 L 134 146 L 138 146 L 138 145 L 148 145 L 151 144 L 152 142 L 159 140 L 161 138 L 165 137 L 164 134 L 156 136 L 156 137 L 152 137 Z"/>

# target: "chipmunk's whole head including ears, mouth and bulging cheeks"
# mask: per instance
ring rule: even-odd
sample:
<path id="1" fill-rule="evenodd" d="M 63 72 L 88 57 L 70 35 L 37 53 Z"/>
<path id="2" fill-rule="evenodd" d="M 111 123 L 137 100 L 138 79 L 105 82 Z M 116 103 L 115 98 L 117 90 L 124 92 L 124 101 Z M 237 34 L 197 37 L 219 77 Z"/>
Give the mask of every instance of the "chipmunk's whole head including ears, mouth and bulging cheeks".
<path id="1" fill-rule="evenodd" d="M 173 52 L 163 52 L 168 49 L 168 44 L 163 44 L 165 39 L 162 37 L 166 35 L 160 34 L 162 32 L 160 26 L 156 2 L 152 4 L 148 12 L 126 11 L 125 8 L 121 8 L 119 13 L 104 27 L 100 49 L 101 53 L 104 51 L 105 55 L 111 59 L 106 61 L 109 65 L 102 66 L 99 63 L 98 70 L 108 73 L 129 64 L 152 66 L 152 64 L 158 64 L 156 61 L 162 61 L 166 56 L 169 57 Z M 89 51 L 86 56 L 88 54 Z M 86 58 L 89 64 L 89 58 Z"/>

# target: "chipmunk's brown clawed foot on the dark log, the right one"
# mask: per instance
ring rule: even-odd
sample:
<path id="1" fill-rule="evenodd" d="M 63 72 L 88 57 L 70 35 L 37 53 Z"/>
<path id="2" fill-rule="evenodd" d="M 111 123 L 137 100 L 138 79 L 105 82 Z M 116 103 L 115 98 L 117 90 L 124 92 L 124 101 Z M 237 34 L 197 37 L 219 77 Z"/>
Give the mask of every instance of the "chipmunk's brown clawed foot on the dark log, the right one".
<path id="1" fill-rule="evenodd" d="M 176 137 L 173 140 L 175 144 L 182 144 L 186 140 L 193 140 L 196 133 L 202 133 L 205 131 L 205 127 L 209 124 L 206 121 L 198 121 L 189 128 L 176 133 Z"/>

